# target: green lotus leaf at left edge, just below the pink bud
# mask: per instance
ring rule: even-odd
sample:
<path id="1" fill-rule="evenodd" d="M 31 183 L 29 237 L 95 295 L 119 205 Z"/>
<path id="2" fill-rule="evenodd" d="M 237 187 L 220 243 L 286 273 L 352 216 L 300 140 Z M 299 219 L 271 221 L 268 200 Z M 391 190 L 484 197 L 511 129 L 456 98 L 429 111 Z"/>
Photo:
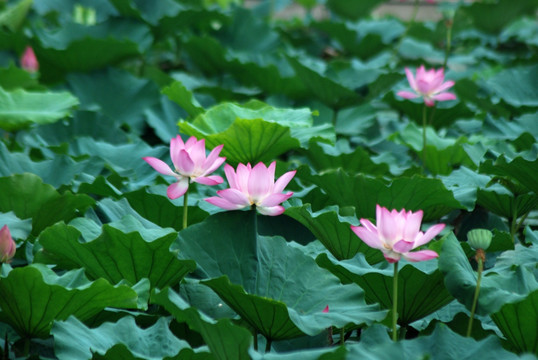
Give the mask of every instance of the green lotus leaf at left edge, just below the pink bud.
<path id="1" fill-rule="evenodd" d="M 138 296 L 128 286 L 89 282 L 83 272 L 58 276 L 40 264 L 11 270 L 0 277 L 0 319 L 21 336 L 45 338 L 54 320 L 73 315 L 84 321 L 106 307 L 137 307 Z"/>

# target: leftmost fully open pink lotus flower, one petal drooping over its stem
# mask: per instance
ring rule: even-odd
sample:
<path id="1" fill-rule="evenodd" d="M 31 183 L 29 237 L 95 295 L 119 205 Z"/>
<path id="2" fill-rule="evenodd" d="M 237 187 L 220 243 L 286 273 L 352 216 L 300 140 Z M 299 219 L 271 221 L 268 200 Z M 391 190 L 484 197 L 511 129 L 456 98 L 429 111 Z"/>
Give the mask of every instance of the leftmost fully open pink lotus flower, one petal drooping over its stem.
<path id="1" fill-rule="evenodd" d="M 226 160 L 224 157 L 218 157 L 222 147 L 223 145 L 219 145 L 214 148 L 206 158 L 204 139 L 198 141 L 191 136 L 186 143 L 183 143 L 178 135 L 170 140 L 170 158 L 175 171 L 157 158 L 144 157 L 143 159 L 159 173 L 174 176 L 177 179 L 177 182 L 168 186 L 166 191 L 170 199 L 177 199 L 187 192 L 190 180 L 204 185 L 218 185 L 223 182 L 220 176 L 208 176 Z"/>

